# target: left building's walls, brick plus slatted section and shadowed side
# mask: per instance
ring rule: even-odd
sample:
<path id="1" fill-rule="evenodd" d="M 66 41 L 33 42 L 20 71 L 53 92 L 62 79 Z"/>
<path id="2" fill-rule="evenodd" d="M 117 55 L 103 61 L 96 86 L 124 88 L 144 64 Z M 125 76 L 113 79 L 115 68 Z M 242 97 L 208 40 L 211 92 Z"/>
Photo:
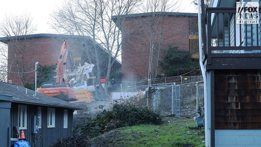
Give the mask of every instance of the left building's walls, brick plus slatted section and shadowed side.
<path id="1" fill-rule="evenodd" d="M 72 52 L 72 56 L 77 59 L 74 59 L 75 66 L 79 66 L 79 63 L 82 65 L 84 62 L 87 61 L 86 53 L 81 51 L 81 39 L 72 36 L 72 38 L 51 38 L 51 37 L 36 37 L 31 38 L 27 41 L 26 48 L 25 48 L 25 55 L 24 55 L 24 72 L 31 72 L 35 70 L 35 62 L 39 62 L 42 66 L 44 65 L 51 65 L 56 64 L 58 57 L 60 55 L 61 47 L 63 44 L 63 39 L 68 39 L 70 50 Z M 90 50 L 93 49 L 92 47 L 89 48 Z M 18 54 L 18 52 L 16 51 Z M 101 55 L 102 54 L 102 55 Z M 9 72 L 18 72 L 17 65 L 15 63 L 15 56 L 12 50 L 12 44 L 9 43 L 8 45 L 8 71 Z M 95 56 L 93 55 L 93 63 L 96 64 Z M 100 50 L 101 58 L 103 59 L 101 65 L 101 78 L 105 77 L 107 73 L 107 62 L 108 62 L 108 54 L 105 53 L 103 50 Z M 68 62 L 68 61 L 67 61 Z M 82 63 L 83 62 L 83 63 Z M 22 63 L 22 62 L 20 62 Z M 66 64 L 69 66 L 69 63 Z M 96 66 L 94 66 L 96 68 Z M 112 72 L 118 72 L 121 69 L 121 65 L 118 62 L 114 62 Z M 20 68 L 20 72 L 21 68 Z M 9 73 L 7 76 L 8 80 L 12 80 L 12 83 L 15 85 L 21 85 L 22 82 L 20 81 L 18 74 Z M 35 72 L 25 74 L 25 83 L 34 84 L 35 80 Z"/>

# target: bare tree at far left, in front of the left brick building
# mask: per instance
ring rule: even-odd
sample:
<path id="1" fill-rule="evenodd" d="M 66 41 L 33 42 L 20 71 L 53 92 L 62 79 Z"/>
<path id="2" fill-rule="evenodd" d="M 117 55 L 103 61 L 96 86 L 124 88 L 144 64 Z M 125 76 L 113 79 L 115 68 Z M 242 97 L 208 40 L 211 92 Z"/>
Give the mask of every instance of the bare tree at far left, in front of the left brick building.
<path id="1" fill-rule="evenodd" d="M 30 15 L 23 14 L 19 16 L 7 16 L 5 15 L 2 22 L 0 22 L 0 35 L 5 36 L 8 43 L 8 54 L 2 55 L 5 59 L 8 58 L 8 72 L 13 72 L 21 82 L 22 86 L 25 86 L 28 76 L 25 74 L 28 72 L 28 67 L 24 62 L 26 57 L 26 48 L 29 35 L 36 30 L 36 26 L 32 24 L 32 18 Z M 22 37 L 21 37 L 22 36 Z"/>

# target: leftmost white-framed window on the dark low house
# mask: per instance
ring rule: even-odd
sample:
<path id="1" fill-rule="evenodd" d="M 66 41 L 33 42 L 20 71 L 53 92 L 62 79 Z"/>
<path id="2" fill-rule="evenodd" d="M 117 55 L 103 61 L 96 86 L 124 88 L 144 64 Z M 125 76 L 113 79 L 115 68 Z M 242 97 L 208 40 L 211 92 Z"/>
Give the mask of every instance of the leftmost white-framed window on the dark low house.
<path id="1" fill-rule="evenodd" d="M 18 127 L 19 127 L 19 129 L 27 129 L 27 107 L 26 107 L 26 105 L 18 105 Z"/>

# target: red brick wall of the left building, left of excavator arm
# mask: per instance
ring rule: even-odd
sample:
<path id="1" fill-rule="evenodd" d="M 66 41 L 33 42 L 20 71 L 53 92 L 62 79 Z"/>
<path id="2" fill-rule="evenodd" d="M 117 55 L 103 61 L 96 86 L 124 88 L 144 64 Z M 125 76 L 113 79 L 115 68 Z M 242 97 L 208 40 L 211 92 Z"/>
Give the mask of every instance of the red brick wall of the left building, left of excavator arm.
<path id="1" fill-rule="evenodd" d="M 66 39 L 66 38 L 64 38 Z M 35 62 L 39 62 L 42 66 L 56 64 L 58 56 L 61 51 L 63 39 L 39 37 L 31 38 L 27 41 L 27 47 L 24 54 L 24 72 L 30 72 L 35 69 Z M 69 42 L 70 44 L 70 42 Z M 8 46 L 8 71 L 17 72 L 17 65 L 14 59 L 14 52 L 12 51 L 11 43 Z M 18 53 L 18 52 L 16 52 Z M 25 74 L 26 83 L 34 84 L 35 72 Z M 18 74 L 9 73 L 8 80 L 12 80 L 15 85 L 22 85 Z"/>

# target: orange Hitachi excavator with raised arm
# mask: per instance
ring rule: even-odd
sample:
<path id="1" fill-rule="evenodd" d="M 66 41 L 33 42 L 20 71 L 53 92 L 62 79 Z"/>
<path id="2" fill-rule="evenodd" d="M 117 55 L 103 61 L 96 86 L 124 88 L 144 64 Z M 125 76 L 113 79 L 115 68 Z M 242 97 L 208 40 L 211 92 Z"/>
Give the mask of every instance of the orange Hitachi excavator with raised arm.
<path id="1" fill-rule="evenodd" d="M 74 89 L 70 88 L 66 83 L 65 65 L 68 59 L 70 68 L 75 69 L 72 54 L 69 49 L 68 40 L 63 40 L 60 56 L 57 60 L 57 83 L 43 82 L 37 92 L 56 97 L 65 101 L 77 101 Z"/>

